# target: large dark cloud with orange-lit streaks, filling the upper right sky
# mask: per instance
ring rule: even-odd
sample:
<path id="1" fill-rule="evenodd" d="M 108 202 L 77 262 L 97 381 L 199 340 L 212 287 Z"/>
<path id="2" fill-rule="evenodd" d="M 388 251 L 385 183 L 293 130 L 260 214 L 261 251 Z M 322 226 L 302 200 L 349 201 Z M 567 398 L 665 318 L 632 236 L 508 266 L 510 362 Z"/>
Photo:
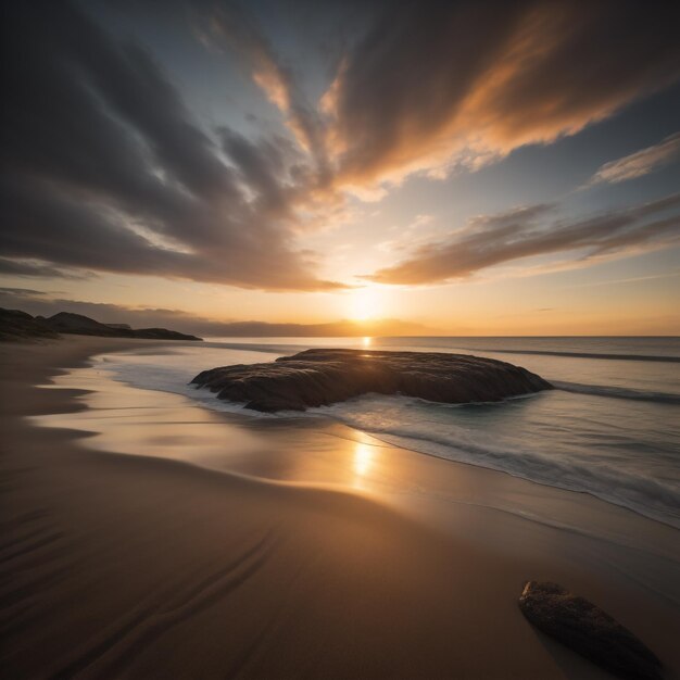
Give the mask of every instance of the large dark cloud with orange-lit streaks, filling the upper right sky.
<path id="1" fill-rule="evenodd" d="M 324 100 L 337 181 L 443 176 L 578 133 L 680 76 L 677 9 L 388 3 Z"/>

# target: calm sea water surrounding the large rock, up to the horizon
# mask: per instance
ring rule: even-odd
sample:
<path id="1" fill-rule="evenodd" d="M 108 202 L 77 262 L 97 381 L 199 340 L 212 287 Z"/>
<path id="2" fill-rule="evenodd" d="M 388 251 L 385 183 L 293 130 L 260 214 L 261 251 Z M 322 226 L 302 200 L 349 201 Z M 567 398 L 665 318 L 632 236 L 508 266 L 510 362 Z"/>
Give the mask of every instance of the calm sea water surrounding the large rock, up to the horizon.
<path id="1" fill-rule="evenodd" d="M 591 493 L 680 527 L 680 338 L 213 338 L 100 357 L 117 379 L 265 416 L 188 382 L 205 368 L 313 347 L 458 352 L 518 364 L 557 389 L 496 404 L 367 395 L 310 410 L 387 442 Z M 300 414 L 294 414 L 300 417 Z"/>

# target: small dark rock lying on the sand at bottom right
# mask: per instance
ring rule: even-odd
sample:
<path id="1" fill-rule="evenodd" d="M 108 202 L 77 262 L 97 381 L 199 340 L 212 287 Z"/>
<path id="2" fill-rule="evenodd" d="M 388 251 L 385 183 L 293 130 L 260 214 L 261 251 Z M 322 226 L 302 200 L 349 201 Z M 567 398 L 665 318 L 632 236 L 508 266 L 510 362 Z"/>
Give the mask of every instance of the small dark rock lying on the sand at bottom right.
<path id="1" fill-rule="evenodd" d="M 528 581 L 522 614 L 539 630 L 627 680 L 662 680 L 662 664 L 629 630 L 561 585 Z"/>

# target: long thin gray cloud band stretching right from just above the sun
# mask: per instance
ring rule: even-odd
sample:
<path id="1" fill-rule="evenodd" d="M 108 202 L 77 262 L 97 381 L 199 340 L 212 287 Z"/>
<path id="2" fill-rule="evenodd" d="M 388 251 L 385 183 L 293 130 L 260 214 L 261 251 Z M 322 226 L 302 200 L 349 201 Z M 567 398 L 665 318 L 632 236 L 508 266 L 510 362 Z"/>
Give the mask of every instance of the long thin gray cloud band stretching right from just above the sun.
<path id="1" fill-rule="evenodd" d="M 555 212 L 553 205 L 532 205 L 475 217 L 449 239 L 428 243 L 365 278 L 437 284 L 521 257 L 580 251 L 576 261 L 583 262 L 680 242 L 680 193 L 572 222 L 558 219 Z"/>

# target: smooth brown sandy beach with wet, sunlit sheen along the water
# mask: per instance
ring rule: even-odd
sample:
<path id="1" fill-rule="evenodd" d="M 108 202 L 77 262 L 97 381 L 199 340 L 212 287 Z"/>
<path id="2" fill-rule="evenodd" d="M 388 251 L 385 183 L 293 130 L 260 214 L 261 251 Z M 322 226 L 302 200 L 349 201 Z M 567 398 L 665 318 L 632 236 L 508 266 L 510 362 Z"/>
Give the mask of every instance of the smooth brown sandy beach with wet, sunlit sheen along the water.
<path id="1" fill-rule="evenodd" d="M 594 601 L 677 677 L 676 529 L 350 428 L 39 387 L 139 347 L 162 343 L 0 348 L 7 677 L 608 678 L 524 619 L 528 579 Z M 151 406 L 153 449 L 141 420 L 128 439 L 97 424 Z M 219 466 L 191 455 L 197 428 Z"/>

